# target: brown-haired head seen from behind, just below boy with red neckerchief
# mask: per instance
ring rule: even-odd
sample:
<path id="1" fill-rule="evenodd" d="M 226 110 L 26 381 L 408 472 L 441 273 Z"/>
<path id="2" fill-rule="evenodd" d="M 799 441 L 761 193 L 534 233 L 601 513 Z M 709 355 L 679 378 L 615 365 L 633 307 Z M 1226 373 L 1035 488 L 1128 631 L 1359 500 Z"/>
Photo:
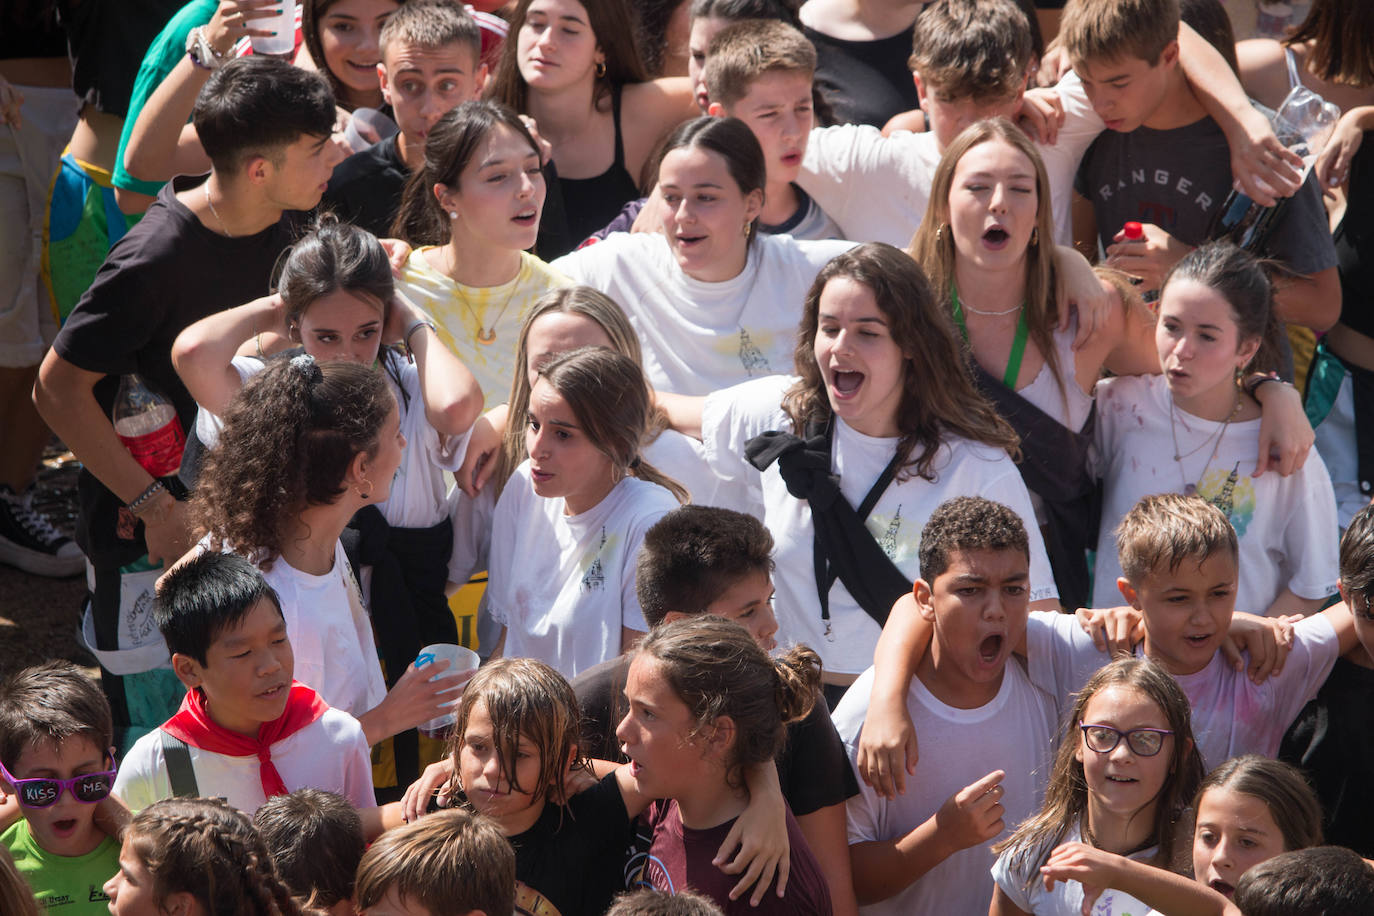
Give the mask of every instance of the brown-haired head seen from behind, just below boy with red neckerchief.
<path id="1" fill-rule="evenodd" d="M 357 809 L 338 792 L 298 788 L 253 814 L 272 864 L 291 894 L 331 916 L 353 912 L 353 878 L 367 843 Z"/>

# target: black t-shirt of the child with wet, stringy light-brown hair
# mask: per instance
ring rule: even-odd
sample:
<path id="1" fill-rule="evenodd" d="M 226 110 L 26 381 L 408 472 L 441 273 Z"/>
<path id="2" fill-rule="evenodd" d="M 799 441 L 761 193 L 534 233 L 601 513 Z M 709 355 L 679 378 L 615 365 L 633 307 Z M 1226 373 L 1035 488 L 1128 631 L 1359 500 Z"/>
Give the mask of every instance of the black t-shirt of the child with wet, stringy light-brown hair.
<path id="1" fill-rule="evenodd" d="M 508 839 L 519 915 L 600 916 L 625 889 L 635 831 L 614 773 L 567 805 L 544 805 L 533 827 Z"/>

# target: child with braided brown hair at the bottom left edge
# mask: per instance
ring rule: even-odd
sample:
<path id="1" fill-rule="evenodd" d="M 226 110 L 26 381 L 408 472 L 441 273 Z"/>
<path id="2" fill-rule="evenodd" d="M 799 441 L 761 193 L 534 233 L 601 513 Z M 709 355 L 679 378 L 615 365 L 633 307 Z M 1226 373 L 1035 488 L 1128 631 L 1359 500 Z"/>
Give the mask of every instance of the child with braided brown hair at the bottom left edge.
<path id="1" fill-rule="evenodd" d="M 247 814 L 218 798 L 169 798 L 124 831 L 104 883 L 111 916 L 304 916 Z"/>

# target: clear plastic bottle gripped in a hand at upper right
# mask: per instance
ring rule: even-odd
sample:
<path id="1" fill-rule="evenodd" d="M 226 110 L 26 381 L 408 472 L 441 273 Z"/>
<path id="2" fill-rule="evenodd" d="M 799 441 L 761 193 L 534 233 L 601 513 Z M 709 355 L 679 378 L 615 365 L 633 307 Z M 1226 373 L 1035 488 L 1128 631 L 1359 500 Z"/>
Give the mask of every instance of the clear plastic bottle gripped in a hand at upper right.
<path id="1" fill-rule="evenodd" d="M 1274 113 L 1274 133 L 1279 143 L 1303 159 L 1303 181 L 1341 118 L 1341 110 L 1307 87 L 1294 87 Z M 1212 216 L 1208 239 L 1228 239 L 1253 254 L 1264 254 L 1270 235 L 1292 198 L 1276 198 L 1271 207 L 1260 206 L 1242 191 L 1231 191 Z"/>

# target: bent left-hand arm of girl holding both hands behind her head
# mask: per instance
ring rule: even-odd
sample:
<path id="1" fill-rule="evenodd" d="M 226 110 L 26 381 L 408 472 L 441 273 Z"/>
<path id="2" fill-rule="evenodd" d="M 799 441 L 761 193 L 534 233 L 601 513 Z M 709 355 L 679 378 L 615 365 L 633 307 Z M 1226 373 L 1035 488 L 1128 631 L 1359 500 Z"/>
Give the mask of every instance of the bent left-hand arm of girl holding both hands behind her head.
<path id="1" fill-rule="evenodd" d="M 181 331 L 172 345 L 172 365 L 195 402 L 221 416 L 243 387 L 232 365 L 239 345 L 265 331 L 284 332 L 284 316 L 282 297 L 272 294 L 203 317 Z"/>

